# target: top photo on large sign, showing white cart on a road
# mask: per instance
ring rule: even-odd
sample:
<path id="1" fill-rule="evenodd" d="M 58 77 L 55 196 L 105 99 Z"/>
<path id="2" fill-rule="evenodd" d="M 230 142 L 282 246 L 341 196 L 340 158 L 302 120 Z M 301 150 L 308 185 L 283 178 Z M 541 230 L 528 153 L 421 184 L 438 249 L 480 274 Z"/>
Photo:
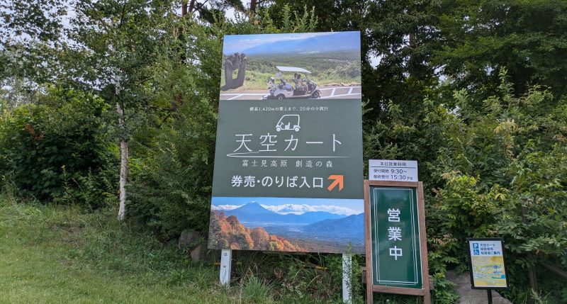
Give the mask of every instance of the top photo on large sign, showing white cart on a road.
<path id="1" fill-rule="evenodd" d="M 225 100 L 360 99 L 360 34 L 226 35 L 220 90 Z"/>

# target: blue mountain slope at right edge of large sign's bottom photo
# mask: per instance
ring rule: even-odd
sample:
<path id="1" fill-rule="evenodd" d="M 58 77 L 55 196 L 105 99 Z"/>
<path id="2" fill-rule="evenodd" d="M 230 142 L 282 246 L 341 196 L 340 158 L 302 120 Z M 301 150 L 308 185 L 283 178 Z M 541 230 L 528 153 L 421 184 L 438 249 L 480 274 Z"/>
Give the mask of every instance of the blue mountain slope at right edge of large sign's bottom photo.
<path id="1" fill-rule="evenodd" d="M 320 222 L 306 225 L 302 230 L 336 237 L 364 239 L 364 213 L 335 220 L 321 220 Z"/>

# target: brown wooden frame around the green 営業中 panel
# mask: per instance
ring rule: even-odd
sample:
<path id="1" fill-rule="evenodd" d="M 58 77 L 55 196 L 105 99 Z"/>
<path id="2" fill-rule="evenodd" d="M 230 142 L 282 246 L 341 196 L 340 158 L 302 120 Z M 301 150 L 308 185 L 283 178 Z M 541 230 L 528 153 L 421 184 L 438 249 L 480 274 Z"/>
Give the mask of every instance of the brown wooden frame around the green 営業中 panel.
<path id="1" fill-rule="evenodd" d="M 420 257 L 422 264 L 422 288 L 405 288 L 395 286 L 374 285 L 372 277 L 372 218 L 371 218 L 371 201 L 370 187 L 383 186 L 389 188 L 415 188 L 417 193 L 417 216 L 420 231 Z M 366 303 L 373 303 L 374 293 L 397 293 L 403 295 L 421 295 L 424 297 L 424 303 L 431 303 L 430 294 L 430 278 L 427 262 L 427 237 L 425 235 L 425 200 L 423 196 L 423 184 L 421 181 L 369 181 L 364 180 L 364 233 L 366 242 Z"/>

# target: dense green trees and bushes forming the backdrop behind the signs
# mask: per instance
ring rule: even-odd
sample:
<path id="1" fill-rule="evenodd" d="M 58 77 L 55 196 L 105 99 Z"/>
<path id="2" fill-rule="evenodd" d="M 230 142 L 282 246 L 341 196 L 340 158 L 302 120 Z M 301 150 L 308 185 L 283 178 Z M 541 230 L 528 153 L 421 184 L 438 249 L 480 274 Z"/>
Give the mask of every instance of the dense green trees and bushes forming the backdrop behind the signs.
<path id="1" fill-rule="evenodd" d="M 275 0 L 232 20 L 222 1 L 184 17 L 179 1 L 79 1 L 86 13 L 70 30 L 64 1 L 42 0 L 29 14 L 21 2 L 0 10 L 0 33 L 10 33 L 0 35 L 0 174 L 21 195 L 116 208 L 125 140 L 130 220 L 162 242 L 206 233 L 223 35 L 361 30 L 364 161 L 420 163 L 437 302 L 455 300 L 445 274 L 466 269 L 466 237 L 503 237 L 505 295 L 566 303 L 565 280 L 541 266 L 567 269 L 565 1 Z M 251 85 L 264 88 L 272 63 L 249 65 Z M 337 257 L 239 259 L 252 303 L 276 290 L 270 282 L 281 295 L 339 299 Z"/>

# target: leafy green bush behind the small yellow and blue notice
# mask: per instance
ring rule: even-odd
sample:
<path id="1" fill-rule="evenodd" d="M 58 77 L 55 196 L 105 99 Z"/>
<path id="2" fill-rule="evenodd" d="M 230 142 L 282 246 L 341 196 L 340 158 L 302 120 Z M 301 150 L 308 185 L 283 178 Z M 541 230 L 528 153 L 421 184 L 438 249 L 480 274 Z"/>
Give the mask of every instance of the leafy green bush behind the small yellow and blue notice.
<path id="1" fill-rule="evenodd" d="M 466 269 L 466 237 L 503 237 L 513 287 L 506 295 L 520 301 L 532 296 L 522 292 L 529 266 L 541 274 L 543 263 L 567 267 L 566 99 L 539 86 L 515 97 L 505 71 L 500 78 L 498 94 L 481 102 L 464 90 L 454 95 L 455 128 L 446 129 L 431 164 L 444 185 L 429 206 L 430 266 Z M 466 107 L 473 103 L 483 111 Z M 564 283 L 547 277 L 538 278 L 541 291 L 558 303 Z"/>

